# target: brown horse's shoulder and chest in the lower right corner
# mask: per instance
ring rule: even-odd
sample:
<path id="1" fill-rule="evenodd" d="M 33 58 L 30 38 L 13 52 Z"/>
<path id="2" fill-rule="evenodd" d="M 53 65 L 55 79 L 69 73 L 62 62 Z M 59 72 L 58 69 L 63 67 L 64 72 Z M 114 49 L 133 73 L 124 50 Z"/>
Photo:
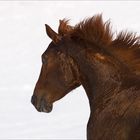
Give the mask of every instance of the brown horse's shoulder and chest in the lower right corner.
<path id="1" fill-rule="evenodd" d="M 91 113 L 87 128 L 89 139 L 140 138 L 140 90 L 131 88 L 113 94 L 102 106 Z"/>

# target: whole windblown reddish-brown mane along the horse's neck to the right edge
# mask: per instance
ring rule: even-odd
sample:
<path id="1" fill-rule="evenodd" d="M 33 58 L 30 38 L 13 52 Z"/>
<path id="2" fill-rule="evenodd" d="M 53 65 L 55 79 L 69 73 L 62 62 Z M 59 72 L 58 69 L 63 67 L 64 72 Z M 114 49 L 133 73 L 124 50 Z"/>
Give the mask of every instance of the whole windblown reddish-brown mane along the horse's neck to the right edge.
<path id="1" fill-rule="evenodd" d="M 67 28 L 68 21 L 65 19 L 63 22 L 63 27 Z M 102 15 L 95 15 L 71 27 L 67 34 L 106 47 L 130 69 L 140 74 L 140 37 L 135 33 L 121 31 L 114 37 L 110 21 L 103 22 Z"/>

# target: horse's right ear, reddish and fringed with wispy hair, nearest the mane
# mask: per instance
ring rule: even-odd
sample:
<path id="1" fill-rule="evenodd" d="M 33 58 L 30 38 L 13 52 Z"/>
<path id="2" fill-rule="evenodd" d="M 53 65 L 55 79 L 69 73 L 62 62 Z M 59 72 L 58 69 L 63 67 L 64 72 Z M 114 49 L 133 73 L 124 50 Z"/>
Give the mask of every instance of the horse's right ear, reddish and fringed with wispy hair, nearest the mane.
<path id="1" fill-rule="evenodd" d="M 68 25 L 69 20 L 63 19 L 59 20 L 59 27 L 58 27 L 58 33 L 62 36 L 68 34 L 70 31 L 72 31 L 73 27 Z"/>

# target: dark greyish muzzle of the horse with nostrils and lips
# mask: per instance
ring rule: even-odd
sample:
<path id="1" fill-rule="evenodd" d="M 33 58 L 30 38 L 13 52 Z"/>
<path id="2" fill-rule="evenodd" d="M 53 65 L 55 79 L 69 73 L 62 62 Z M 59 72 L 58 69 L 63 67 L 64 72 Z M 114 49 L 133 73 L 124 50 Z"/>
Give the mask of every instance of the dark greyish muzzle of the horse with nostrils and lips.
<path id="1" fill-rule="evenodd" d="M 50 103 L 47 103 L 45 99 L 40 99 L 40 101 L 38 101 L 35 95 L 32 96 L 31 103 L 35 106 L 35 108 L 39 112 L 49 113 L 52 111 L 52 108 L 53 108 L 53 105 Z"/>

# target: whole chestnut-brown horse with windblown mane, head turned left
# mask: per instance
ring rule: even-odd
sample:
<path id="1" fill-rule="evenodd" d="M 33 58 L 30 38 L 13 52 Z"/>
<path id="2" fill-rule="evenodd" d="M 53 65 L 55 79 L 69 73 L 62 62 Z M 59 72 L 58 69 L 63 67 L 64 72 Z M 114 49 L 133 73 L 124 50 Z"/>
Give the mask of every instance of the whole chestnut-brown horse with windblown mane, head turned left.
<path id="1" fill-rule="evenodd" d="M 75 26 L 59 21 L 58 33 L 45 24 L 51 43 L 42 54 L 31 98 L 39 112 L 83 86 L 90 105 L 87 140 L 140 140 L 140 39 L 115 34 L 102 15 Z"/>

